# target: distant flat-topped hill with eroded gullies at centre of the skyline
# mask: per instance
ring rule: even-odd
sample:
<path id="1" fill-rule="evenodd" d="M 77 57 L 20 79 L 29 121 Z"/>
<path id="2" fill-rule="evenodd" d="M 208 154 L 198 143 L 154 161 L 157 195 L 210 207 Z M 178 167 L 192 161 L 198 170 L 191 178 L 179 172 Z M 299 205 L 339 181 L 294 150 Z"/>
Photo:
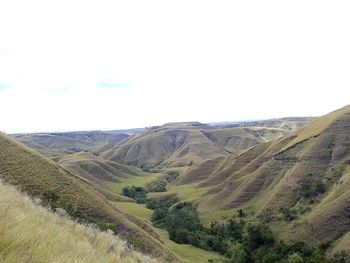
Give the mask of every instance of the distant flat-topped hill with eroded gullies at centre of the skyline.
<path id="1" fill-rule="evenodd" d="M 131 136 L 101 156 L 139 167 L 188 166 L 239 153 L 286 133 L 279 128 L 217 128 L 200 123 L 169 123 Z"/>

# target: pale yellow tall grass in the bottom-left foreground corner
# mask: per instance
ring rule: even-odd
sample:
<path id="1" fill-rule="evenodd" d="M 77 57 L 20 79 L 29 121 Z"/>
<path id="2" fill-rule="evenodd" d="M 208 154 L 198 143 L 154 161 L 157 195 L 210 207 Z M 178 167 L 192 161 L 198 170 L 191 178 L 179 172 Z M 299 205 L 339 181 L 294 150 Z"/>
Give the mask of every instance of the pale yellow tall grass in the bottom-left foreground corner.
<path id="1" fill-rule="evenodd" d="M 156 262 L 94 230 L 35 205 L 0 182 L 0 262 Z"/>

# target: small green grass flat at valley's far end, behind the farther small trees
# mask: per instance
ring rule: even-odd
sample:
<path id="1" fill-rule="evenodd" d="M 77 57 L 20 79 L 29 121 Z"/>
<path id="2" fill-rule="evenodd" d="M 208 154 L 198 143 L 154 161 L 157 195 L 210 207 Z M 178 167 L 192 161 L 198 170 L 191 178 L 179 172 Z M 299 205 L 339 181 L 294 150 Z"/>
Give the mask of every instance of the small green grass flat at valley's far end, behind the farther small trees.
<path id="1" fill-rule="evenodd" d="M 126 179 L 122 179 L 120 183 L 115 183 L 115 182 L 106 182 L 105 186 L 112 191 L 113 193 L 116 194 L 121 194 L 123 191 L 123 188 L 126 186 L 145 186 L 147 183 L 151 183 L 153 181 L 156 181 L 160 177 L 162 177 L 163 174 L 150 174 L 148 176 L 132 176 Z"/>

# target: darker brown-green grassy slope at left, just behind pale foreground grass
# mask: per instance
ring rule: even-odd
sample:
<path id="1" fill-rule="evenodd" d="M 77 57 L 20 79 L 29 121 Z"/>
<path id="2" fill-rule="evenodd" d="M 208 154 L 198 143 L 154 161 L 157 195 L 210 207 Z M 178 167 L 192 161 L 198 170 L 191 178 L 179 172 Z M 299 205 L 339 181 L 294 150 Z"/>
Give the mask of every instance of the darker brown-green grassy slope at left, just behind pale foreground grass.
<path id="1" fill-rule="evenodd" d="M 137 220 L 109 202 L 80 177 L 58 164 L 0 134 L 0 179 L 16 185 L 30 196 L 40 197 L 52 207 L 64 208 L 71 216 L 100 226 L 112 227 L 118 235 L 147 254 L 177 260 L 151 226 Z"/>

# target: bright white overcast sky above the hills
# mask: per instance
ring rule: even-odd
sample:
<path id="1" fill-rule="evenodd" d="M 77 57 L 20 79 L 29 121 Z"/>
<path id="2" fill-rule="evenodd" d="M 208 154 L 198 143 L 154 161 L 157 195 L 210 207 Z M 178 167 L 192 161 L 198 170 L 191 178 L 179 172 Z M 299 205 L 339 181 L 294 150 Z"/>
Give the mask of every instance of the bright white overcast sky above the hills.
<path id="1" fill-rule="evenodd" d="M 319 116 L 350 104 L 350 1 L 0 0 L 0 131 Z"/>

